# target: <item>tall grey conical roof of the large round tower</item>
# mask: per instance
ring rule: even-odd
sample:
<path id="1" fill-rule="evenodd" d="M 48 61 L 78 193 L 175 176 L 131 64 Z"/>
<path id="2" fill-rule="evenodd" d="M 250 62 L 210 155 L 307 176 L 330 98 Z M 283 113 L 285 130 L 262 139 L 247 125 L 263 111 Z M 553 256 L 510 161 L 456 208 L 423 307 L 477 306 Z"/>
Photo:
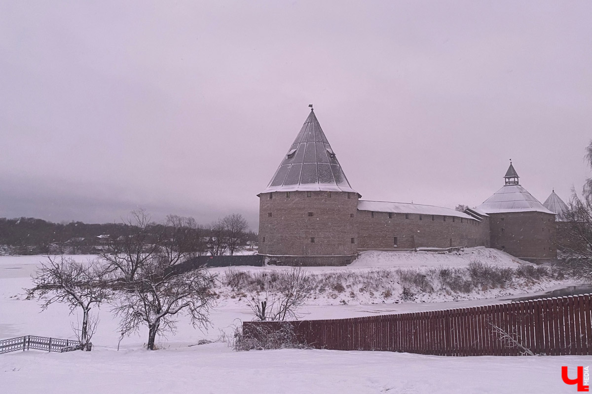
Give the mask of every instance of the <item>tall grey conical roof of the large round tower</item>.
<path id="1" fill-rule="evenodd" d="M 314 110 L 288 149 L 263 193 L 274 191 L 349 191 L 349 185 Z"/>

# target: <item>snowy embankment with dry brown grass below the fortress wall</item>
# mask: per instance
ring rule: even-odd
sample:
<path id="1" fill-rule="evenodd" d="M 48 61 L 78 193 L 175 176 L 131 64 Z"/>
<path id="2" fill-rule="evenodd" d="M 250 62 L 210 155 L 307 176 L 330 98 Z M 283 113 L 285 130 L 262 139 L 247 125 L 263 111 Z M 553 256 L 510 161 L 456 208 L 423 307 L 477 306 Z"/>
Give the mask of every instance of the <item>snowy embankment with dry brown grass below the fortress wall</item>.
<path id="1" fill-rule="evenodd" d="M 214 268 L 221 299 L 249 302 L 282 291 L 288 267 Z M 362 252 L 345 267 L 307 267 L 308 305 L 400 304 L 507 297 L 565 284 L 561 272 L 488 248 L 453 252 Z"/>

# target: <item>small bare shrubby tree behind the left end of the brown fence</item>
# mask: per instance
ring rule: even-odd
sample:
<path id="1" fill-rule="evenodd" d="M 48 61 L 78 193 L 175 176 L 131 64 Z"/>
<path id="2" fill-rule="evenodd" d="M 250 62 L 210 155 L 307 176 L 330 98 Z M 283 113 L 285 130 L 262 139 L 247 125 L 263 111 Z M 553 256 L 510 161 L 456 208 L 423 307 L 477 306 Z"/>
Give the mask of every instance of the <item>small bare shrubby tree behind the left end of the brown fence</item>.
<path id="1" fill-rule="evenodd" d="M 314 288 L 314 281 L 300 267 L 293 267 L 290 271 L 281 276 L 285 282 L 284 289 L 279 295 L 266 292 L 265 296 L 253 298 L 249 307 L 253 311 L 256 320 L 283 321 L 297 319 L 300 308 Z"/>

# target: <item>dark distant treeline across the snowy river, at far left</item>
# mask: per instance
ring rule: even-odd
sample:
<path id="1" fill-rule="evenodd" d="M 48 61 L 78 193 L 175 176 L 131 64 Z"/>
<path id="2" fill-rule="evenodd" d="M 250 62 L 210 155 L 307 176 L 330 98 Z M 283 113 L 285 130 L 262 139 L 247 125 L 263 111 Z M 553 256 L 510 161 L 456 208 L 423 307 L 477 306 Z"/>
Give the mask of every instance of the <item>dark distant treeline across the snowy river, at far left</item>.
<path id="1" fill-rule="evenodd" d="M 155 228 L 157 228 L 156 226 Z M 55 253 L 56 246 L 66 246 L 67 253 L 94 253 L 101 242 L 100 236 L 110 238 L 128 236 L 134 226 L 125 223 L 88 224 L 82 222 L 52 223 L 34 217 L 0 218 L 0 253 L 36 255 Z M 203 230 L 210 236 L 211 230 Z M 255 242 L 254 232 L 245 234 L 247 241 Z M 60 248 L 57 248 L 60 249 Z"/>

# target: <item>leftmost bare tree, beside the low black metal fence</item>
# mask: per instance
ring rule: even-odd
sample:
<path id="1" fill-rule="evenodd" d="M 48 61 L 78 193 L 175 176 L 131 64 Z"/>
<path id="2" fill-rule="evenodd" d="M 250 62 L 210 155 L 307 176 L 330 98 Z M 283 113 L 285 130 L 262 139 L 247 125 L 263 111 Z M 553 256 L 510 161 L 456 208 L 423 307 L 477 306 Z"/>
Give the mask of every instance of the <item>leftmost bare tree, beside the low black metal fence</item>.
<path id="1" fill-rule="evenodd" d="M 34 288 L 27 289 L 30 298 L 43 301 L 42 310 L 54 302 L 67 304 L 72 314 L 77 308 L 82 310 L 82 327 L 75 328 L 81 349 L 90 350 L 90 340 L 98 321 L 90 315 L 91 307 L 110 298 L 111 292 L 105 287 L 105 269 L 97 261 L 82 264 L 72 258 L 60 256 L 47 257 L 41 262 L 33 276 Z"/>

